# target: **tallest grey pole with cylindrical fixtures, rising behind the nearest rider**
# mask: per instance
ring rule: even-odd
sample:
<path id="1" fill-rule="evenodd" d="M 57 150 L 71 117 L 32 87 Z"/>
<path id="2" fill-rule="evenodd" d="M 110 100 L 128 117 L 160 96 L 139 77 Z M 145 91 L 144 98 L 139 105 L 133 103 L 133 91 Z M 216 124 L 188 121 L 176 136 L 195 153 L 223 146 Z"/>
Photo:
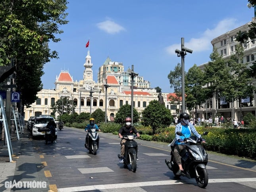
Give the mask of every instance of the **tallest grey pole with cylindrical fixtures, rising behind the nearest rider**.
<path id="1" fill-rule="evenodd" d="M 184 37 L 181 37 L 181 51 L 176 49 L 175 53 L 178 57 L 181 57 L 181 93 L 182 93 L 182 112 L 185 112 L 185 66 L 184 66 L 184 60 L 185 55 L 187 55 L 187 52 L 191 53 L 193 50 L 186 48 L 184 46 Z"/>

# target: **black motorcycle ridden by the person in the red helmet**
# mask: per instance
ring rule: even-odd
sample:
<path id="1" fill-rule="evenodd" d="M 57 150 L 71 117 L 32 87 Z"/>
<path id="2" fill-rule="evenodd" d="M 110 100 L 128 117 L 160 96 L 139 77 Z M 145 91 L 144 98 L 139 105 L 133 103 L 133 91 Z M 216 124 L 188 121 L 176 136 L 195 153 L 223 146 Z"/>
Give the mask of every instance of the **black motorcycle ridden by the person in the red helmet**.
<path id="1" fill-rule="evenodd" d="M 138 144 L 134 140 L 137 138 L 137 135 L 129 134 L 123 136 L 123 139 L 126 139 L 125 145 L 125 154 L 123 157 L 123 164 L 124 167 L 128 167 L 128 165 L 131 165 L 131 171 L 134 173 L 137 169 L 137 153 L 138 153 Z M 121 158 L 121 155 L 118 154 L 118 158 Z"/>

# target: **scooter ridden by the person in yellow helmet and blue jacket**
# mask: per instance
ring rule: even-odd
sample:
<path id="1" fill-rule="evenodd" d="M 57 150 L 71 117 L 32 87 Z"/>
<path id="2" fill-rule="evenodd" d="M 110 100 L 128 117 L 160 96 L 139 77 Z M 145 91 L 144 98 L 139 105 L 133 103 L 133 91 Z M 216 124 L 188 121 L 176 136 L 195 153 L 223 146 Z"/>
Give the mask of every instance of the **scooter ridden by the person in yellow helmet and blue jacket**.
<path id="1" fill-rule="evenodd" d="M 89 153 L 96 155 L 99 148 L 100 136 L 96 131 L 96 128 L 89 128 L 87 132 L 87 136 L 85 137 L 85 148 L 89 150 Z"/>

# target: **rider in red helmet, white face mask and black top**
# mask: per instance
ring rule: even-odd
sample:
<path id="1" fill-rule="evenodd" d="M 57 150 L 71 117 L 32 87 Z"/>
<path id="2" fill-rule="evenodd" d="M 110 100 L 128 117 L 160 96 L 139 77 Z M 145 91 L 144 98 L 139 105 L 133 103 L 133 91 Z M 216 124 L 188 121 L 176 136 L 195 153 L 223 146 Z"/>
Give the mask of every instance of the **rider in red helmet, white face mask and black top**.
<path id="1" fill-rule="evenodd" d="M 123 139 L 123 135 L 127 134 L 137 134 L 137 137 L 140 137 L 139 132 L 135 129 L 135 127 L 131 126 L 131 117 L 126 117 L 125 118 L 125 126 L 121 127 L 119 129 L 118 135 L 122 139 L 120 144 L 121 144 L 121 158 L 120 158 L 120 163 L 123 163 L 123 156 L 125 154 L 125 145 L 124 143 L 126 142 L 125 139 Z"/>

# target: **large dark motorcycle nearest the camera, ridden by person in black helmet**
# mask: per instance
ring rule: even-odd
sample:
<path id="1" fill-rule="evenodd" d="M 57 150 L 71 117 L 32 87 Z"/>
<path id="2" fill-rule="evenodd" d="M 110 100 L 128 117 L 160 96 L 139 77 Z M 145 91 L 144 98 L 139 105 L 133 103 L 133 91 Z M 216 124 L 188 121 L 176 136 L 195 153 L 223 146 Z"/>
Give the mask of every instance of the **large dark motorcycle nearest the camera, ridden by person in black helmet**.
<path id="1" fill-rule="evenodd" d="M 183 136 L 180 131 L 177 131 L 179 136 Z M 204 132 L 203 135 L 207 135 L 208 132 Z M 208 154 L 204 148 L 200 145 L 201 140 L 196 136 L 190 136 L 184 139 L 186 148 L 181 151 L 181 163 L 184 169 L 181 175 L 176 175 L 179 171 L 179 166 L 173 161 L 173 150 L 176 139 L 174 139 L 168 146 L 171 146 L 171 159 L 165 159 L 167 167 L 173 171 L 176 177 L 185 176 L 189 179 L 195 178 L 199 187 L 205 188 L 208 184 L 208 173 L 206 170 L 206 164 L 208 163 Z"/>

